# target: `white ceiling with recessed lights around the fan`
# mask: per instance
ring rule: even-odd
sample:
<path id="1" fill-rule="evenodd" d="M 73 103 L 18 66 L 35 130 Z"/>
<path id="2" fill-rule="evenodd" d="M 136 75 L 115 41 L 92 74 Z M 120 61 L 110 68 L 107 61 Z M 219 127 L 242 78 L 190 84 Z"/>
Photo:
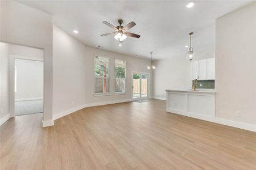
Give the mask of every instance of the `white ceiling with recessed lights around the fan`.
<path id="1" fill-rule="evenodd" d="M 250 1 L 19 1 L 53 15 L 54 23 L 75 39 L 88 46 L 102 46 L 105 50 L 130 56 L 162 59 L 187 54 L 185 45 L 189 32 L 194 32 L 192 46 L 197 56 L 214 55 L 214 20 L 236 10 Z M 127 37 L 118 46 L 114 36 L 100 36 L 113 32 L 103 24 L 115 26 L 134 21 L 137 25 L 129 32 L 141 35 L 139 39 Z M 79 34 L 75 35 L 73 29 Z"/>

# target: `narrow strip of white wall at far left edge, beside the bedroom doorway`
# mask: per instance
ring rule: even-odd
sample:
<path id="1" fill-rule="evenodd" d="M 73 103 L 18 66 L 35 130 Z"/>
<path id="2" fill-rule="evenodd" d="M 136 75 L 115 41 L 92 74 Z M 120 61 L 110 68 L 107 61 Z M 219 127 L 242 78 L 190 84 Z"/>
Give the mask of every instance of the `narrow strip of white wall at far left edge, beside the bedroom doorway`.
<path id="1" fill-rule="evenodd" d="M 9 112 L 9 45 L 0 42 L 0 120 Z M 4 121 L 0 121 L 0 125 Z"/>

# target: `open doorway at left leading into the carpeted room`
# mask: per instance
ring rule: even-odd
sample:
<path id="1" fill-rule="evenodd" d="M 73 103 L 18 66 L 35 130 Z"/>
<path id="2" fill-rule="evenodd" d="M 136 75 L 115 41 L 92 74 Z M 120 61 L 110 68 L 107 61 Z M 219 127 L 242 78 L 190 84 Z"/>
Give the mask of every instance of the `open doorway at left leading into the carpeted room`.
<path id="1" fill-rule="evenodd" d="M 14 58 L 14 115 L 43 113 L 43 61 Z"/>

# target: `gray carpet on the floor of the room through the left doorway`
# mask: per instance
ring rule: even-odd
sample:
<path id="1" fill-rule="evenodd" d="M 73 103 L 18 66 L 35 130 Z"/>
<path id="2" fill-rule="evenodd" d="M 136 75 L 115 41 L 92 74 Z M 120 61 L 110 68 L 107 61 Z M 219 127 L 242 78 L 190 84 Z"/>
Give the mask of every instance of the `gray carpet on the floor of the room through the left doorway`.
<path id="1" fill-rule="evenodd" d="M 43 112 L 43 100 L 15 101 L 15 116 Z"/>

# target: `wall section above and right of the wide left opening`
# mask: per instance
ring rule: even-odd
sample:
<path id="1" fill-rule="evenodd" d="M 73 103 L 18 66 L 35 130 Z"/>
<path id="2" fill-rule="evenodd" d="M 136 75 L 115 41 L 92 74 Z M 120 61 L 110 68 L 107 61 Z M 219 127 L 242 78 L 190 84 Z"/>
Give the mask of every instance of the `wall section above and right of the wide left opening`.
<path id="1" fill-rule="evenodd" d="M 0 34 L 3 42 L 44 49 L 43 126 L 52 125 L 52 16 L 18 2 L 1 1 Z"/>

